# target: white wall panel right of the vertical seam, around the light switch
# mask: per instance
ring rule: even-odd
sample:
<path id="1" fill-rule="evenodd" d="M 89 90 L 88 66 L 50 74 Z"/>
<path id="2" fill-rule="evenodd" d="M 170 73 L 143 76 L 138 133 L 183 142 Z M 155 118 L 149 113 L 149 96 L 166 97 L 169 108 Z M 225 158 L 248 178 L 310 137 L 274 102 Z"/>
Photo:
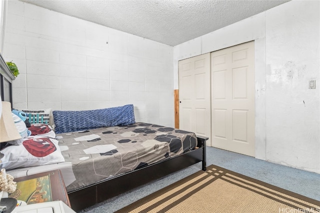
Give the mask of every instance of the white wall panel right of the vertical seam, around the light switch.
<path id="1" fill-rule="evenodd" d="M 266 12 L 266 158 L 320 173 L 320 1 Z M 316 89 L 308 81 L 316 80 Z"/>

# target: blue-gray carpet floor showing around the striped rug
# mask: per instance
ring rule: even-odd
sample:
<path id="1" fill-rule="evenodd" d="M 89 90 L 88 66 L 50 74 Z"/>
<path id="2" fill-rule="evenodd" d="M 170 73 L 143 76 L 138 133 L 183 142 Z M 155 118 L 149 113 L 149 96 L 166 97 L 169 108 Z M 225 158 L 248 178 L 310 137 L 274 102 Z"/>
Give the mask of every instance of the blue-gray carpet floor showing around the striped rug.
<path id="1" fill-rule="evenodd" d="M 258 160 L 213 147 L 207 147 L 206 153 L 207 166 L 214 164 L 320 201 L 320 174 Z M 113 213 L 199 170 L 201 170 L 201 163 L 84 209 L 80 213 Z"/>

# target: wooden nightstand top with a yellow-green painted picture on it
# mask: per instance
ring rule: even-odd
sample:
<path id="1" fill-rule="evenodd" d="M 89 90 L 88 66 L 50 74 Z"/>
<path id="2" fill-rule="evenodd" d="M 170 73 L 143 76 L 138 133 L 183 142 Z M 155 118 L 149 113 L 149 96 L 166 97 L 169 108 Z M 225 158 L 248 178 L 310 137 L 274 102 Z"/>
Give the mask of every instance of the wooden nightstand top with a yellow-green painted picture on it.
<path id="1" fill-rule="evenodd" d="M 24 201 L 27 205 L 62 201 L 70 206 L 60 170 L 15 178 L 16 190 L 9 198 Z"/>

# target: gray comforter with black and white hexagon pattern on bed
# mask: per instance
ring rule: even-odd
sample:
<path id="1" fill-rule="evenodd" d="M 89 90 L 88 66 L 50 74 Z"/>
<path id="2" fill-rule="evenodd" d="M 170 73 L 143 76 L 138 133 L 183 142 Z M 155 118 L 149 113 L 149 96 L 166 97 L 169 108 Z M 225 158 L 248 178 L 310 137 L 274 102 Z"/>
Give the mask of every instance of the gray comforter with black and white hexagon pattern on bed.
<path id="1" fill-rule="evenodd" d="M 65 184 L 68 192 L 180 155 L 197 145 L 194 133 L 147 123 L 56 136 L 65 159 L 62 165 L 71 165 L 75 179 Z"/>

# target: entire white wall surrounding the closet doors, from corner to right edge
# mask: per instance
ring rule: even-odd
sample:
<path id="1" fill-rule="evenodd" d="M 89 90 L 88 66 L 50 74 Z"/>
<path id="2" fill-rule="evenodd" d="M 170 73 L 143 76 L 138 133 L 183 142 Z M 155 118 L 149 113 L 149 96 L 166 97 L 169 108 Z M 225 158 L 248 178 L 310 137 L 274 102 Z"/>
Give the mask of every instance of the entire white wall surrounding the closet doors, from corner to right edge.
<path id="1" fill-rule="evenodd" d="M 292 0 L 174 46 L 174 88 L 178 60 L 254 40 L 255 157 L 320 173 L 319 14 L 320 1 Z"/>

